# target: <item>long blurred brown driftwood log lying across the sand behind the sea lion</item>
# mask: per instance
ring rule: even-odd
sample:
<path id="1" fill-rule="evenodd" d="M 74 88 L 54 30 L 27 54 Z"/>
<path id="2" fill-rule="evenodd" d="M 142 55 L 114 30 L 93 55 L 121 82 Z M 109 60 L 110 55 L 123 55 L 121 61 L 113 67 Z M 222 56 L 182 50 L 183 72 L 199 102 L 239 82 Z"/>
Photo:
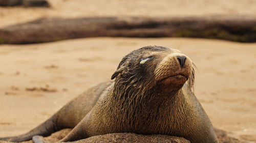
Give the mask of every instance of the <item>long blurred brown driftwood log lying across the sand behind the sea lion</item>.
<path id="1" fill-rule="evenodd" d="M 40 18 L 0 29 L 0 43 L 28 44 L 84 37 L 194 37 L 256 42 L 256 17 Z"/>

